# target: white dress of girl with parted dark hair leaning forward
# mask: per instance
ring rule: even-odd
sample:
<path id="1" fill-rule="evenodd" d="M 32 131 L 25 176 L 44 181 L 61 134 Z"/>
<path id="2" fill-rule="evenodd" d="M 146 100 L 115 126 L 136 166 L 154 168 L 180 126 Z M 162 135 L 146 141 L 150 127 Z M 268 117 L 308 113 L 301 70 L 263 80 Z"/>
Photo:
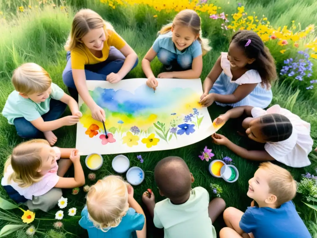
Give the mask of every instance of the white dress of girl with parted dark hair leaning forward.
<path id="1" fill-rule="evenodd" d="M 267 110 L 253 108 L 252 117 L 260 117 L 266 114 L 280 114 L 286 116 L 292 123 L 292 135 L 279 142 L 267 142 L 264 146 L 266 152 L 275 160 L 294 168 L 301 168 L 311 164 L 308 154 L 312 151 L 313 139 L 310 137 L 310 124 L 287 109 L 274 105 Z"/>

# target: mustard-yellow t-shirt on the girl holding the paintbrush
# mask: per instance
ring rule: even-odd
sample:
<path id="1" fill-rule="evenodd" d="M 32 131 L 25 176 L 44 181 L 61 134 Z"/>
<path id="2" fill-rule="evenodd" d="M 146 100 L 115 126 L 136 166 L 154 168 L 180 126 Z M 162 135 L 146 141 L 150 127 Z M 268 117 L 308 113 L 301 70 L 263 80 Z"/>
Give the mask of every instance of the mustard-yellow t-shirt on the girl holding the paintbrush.
<path id="1" fill-rule="evenodd" d="M 115 31 L 106 29 L 106 41 L 103 43 L 102 57 L 97 58 L 90 52 L 85 44 L 80 44 L 70 52 L 72 69 L 85 69 L 86 64 L 96 64 L 105 61 L 109 56 L 110 46 L 118 50 L 126 45 L 126 42 Z"/>

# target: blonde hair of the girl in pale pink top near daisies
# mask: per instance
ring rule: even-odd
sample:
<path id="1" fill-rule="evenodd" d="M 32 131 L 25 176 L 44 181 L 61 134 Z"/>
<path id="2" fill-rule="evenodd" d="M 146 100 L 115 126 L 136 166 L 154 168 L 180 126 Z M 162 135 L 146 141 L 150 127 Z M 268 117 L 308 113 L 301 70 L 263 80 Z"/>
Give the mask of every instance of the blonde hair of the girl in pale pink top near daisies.
<path id="1" fill-rule="evenodd" d="M 17 145 L 4 165 L 4 172 L 11 165 L 13 173 L 8 181 L 16 182 L 21 188 L 26 188 L 42 179 L 41 173 L 37 172 L 42 166 L 40 153 L 46 140 L 34 139 Z"/>

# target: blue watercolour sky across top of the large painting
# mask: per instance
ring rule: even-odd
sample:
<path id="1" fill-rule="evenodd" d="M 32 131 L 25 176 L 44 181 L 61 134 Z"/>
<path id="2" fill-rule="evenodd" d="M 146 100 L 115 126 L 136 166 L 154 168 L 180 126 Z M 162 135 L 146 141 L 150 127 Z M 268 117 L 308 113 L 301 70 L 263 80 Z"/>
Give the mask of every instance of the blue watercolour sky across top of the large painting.
<path id="1" fill-rule="evenodd" d="M 94 101 L 102 108 L 124 114 L 143 114 L 149 109 L 164 111 L 171 106 L 181 105 L 182 101 L 195 93 L 190 88 L 160 88 L 155 93 L 146 85 L 141 85 L 133 93 L 119 89 L 96 88 L 92 93 Z M 199 100 L 199 98 L 197 99 Z"/>

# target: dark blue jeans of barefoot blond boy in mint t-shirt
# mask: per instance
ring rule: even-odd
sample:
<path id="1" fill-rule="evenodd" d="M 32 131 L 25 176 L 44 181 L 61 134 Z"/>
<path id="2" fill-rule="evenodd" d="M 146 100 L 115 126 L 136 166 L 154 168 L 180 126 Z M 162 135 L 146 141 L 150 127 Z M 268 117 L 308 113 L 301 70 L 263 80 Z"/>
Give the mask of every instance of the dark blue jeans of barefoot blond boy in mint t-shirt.
<path id="1" fill-rule="evenodd" d="M 61 117 L 66 109 L 66 104 L 59 100 L 52 99 L 49 102 L 49 111 L 42 115 L 44 122 L 54 121 Z M 32 125 L 24 117 L 14 119 L 13 124 L 16 127 L 18 136 L 22 138 L 43 138 L 43 132 Z"/>

